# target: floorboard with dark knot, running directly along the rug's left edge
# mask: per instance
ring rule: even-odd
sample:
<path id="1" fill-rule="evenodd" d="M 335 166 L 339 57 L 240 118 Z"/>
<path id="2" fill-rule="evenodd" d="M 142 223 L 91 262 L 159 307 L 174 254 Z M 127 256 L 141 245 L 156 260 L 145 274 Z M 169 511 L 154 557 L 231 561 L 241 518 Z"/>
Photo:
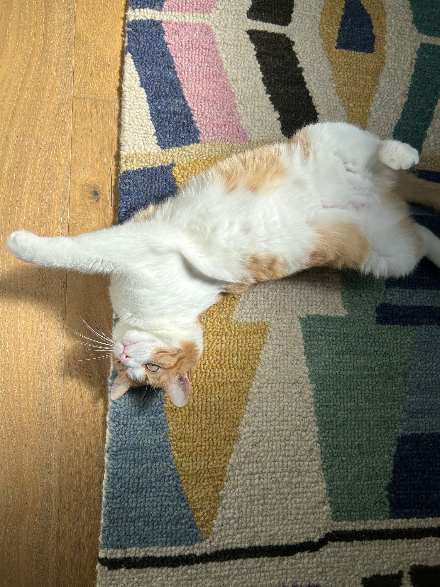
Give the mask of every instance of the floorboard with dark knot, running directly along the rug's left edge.
<path id="1" fill-rule="evenodd" d="M 69 234 L 113 222 L 116 198 L 118 107 L 104 100 L 73 101 Z M 90 338 L 111 331 L 107 279 L 67 276 L 66 326 Z M 109 359 L 93 353 L 66 330 L 63 442 L 60 471 L 58 584 L 93 585 L 101 518 Z M 108 354 L 108 353 L 106 353 Z"/>

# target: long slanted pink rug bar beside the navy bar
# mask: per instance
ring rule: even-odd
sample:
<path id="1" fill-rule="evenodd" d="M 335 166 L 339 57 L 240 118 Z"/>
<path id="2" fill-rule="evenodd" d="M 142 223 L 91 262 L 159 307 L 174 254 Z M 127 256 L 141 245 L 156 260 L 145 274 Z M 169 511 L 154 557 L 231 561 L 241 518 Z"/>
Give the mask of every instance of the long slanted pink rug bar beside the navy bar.
<path id="1" fill-rule="evenodd" d="M 200 142 L 246 143 L 247 130 L 218 54 L 209 25 L 163 21 L 165 42 L 174 60 L 188 106 L 200 131 Z"/>

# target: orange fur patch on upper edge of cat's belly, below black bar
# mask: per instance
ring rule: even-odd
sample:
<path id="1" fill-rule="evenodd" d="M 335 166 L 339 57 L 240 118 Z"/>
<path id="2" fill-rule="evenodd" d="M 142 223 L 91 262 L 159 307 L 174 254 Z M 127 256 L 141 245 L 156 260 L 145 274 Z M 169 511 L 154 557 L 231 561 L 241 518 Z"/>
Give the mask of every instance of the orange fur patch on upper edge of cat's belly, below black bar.
<path id="1" fill-rule="evenodd" d="M 253 193 L 276 187 L 286 175 L 280 146 L 276 144 L 228 157 L 215 166 L 215 171 L 228 191 L 242 189 Z"/>

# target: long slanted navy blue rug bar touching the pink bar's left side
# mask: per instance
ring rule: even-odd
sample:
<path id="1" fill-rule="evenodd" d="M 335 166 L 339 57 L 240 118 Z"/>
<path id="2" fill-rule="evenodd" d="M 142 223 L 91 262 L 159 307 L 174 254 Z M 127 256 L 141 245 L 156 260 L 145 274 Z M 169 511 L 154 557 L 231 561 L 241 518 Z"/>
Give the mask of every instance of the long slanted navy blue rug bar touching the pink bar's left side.
<path id="1" fill-rule="evenodd" d="M 145 90 L 160 148 L 198 143 L 200 133 L 185 100 L 162 24 L 153 20 L 128 23 L 126 50 Z"/>

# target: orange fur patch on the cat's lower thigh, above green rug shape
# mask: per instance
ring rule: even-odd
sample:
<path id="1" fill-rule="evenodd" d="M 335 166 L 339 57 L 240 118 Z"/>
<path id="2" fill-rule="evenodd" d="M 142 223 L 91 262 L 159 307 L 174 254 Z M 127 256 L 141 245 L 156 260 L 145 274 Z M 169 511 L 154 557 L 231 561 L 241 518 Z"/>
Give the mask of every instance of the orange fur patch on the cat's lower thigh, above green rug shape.
<path id="1" fill-rule="evenodd" d="M 357 269 L 370 253 L 370 243 L 357 224 L 328 224 L 317 231 L 317 242 L 310 255 L 309 267 Z"/>

